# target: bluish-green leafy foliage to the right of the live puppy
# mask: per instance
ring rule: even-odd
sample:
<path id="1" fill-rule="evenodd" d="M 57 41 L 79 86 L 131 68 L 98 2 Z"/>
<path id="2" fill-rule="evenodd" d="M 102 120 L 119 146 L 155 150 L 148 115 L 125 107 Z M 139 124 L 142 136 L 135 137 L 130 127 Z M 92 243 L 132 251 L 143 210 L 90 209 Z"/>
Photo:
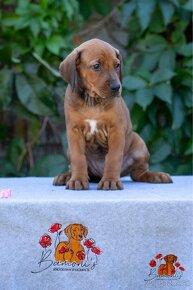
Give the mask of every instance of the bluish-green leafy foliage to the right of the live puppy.
<path id="1" fill-rule="evenodd" d="M 122 7 L 128 50 L 135 51 L 125 63 L 123 95 L 151 168 L 172 174 L 192 172 L 191 12 L 190 1 L 180 0 L 131 0 Z"/>

